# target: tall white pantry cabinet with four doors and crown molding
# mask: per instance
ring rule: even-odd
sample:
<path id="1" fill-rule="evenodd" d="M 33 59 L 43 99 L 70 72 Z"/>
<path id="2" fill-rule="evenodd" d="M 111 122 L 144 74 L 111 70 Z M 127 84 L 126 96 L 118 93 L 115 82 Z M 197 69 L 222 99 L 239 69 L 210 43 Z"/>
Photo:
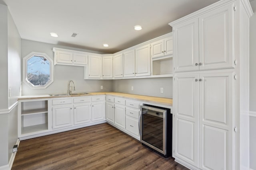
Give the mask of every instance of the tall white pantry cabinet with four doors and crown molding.
<path id="1" fill-rule="evenodd" d="M 169 23 L 173 156 L 190 169 L 249 169 L 248 0 L 220 0 Z"/>

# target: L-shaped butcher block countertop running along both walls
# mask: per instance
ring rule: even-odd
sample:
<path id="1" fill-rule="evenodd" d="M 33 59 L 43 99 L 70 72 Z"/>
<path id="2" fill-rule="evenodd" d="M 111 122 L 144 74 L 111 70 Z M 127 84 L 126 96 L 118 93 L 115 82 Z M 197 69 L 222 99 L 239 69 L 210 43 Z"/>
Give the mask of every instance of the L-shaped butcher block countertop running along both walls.
<path id="1" fill-rule="evenodd" d="M 131 100 L 142 100 L 144 102 L 154 102 L 158 104 L 164 104 L 168 106 L 172 106 L 171 98 L 160 98 L 153 96 L 142 96 L 136 94 L 128 94 L 128 93 L 118 93 L 118 92 L 94 92 L 90 94 L 81 94 L 81 95 L 67 95 L 67 96 L 50 96 L 50 95 L 38 95 L 38 96 L 21 96 L 18 100 L 33 100 L 33 99 L 43 99 L 43 98 L 66 98 L 66 97 L 81 97 L 81 96 L 94 96 L 94 95 L 111 95 L 114 97 L 123 97 Z"/>

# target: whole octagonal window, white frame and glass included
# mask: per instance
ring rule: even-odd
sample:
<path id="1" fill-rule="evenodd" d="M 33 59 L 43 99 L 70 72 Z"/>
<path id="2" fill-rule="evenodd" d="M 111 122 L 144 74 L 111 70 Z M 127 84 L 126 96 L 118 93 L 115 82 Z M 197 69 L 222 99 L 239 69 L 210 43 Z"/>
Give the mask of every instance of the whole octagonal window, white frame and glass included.
<path id="1" fill-rule="evenodd" d="M 23 70 L 23 80 L 32 88 L 46 88 L 53 82 L 53 62 L 45 53 L 24 57 Z"/>

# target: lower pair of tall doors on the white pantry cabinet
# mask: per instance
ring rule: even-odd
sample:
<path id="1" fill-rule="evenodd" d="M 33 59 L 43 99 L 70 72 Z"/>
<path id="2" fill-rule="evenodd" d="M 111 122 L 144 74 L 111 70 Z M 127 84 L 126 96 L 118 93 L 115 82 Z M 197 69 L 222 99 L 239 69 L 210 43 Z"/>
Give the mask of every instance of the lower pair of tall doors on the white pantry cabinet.
<path id="1" fill-rule="evenodd" d="M 200 169 L 233 169 L 234 72 L 176 74 L 173 149 Z"/>

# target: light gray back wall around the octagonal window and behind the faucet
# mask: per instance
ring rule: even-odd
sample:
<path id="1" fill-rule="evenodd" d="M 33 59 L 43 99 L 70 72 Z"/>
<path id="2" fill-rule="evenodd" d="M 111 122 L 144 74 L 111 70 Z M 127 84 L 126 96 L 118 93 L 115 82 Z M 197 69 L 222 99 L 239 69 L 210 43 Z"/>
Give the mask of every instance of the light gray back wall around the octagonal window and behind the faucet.
<path id="1" fill-rule="evenodd" d="M 95 51 L 88 51 L 84 49 L 75 49 L 48 43 L 40 43 L 36 41 L 24 40 L 21 41 L 21 55 L 26 57 L 31 52 L 46 53 L 54 61 L 53 47 L 72 49 L 77 51 L 85 51 L 91 53 L 98 53 Z M 82 66 L 54 66 L 54 82 L 46 89 L 32 89 L 30 86 L 22 82 L 22 96 L 40 95 L 40 94 L 54 94 L 67 93 L 68 81 L 73 80 L 76 86 L 76 92 L 110 92 L 112 91 L 112 80 L 84 80 L 84 67 Z M 103 90 L 100 86 L 103 85 Z"/>

